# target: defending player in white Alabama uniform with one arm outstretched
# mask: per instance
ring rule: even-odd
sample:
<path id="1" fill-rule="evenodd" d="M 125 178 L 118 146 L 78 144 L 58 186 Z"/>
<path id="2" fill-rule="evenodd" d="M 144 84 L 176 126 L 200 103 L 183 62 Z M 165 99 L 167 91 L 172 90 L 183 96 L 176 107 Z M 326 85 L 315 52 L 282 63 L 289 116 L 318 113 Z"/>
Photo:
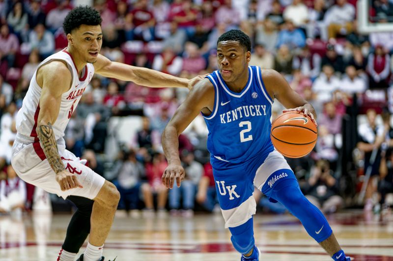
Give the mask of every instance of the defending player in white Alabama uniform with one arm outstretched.
<path id="1" fill-rule="evenodd" d="M 94 72 L 149 87 L 191 88 L 188 80 L 146 68 L 111 62 L 99 54 L 100 14 L 77 7 L 64 20 L 68 46 L 45 59 L 34 73 L 17 115 L 12 166 L 28 183 L 69 198 L 78 207 L 57 261 L 74 261 L 87 235 L 80 261 L 104 261 L 102 248 L 119 201 L 115 186 L 65 149 L 64 130 Z"/>

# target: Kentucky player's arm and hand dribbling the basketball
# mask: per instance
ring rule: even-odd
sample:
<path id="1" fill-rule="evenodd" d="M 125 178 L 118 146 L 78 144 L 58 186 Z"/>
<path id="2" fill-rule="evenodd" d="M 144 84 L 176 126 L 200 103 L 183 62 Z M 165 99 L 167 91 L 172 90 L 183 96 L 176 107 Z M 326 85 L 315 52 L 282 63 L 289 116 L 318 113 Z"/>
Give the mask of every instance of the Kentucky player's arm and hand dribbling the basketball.
<path id="1" fill-rule="evenodd" d="M 278 71 L 262 70 L 262 78 L 269 95 L 272 98 L 277 98 L 287 108 L 283 112 L 301 112 L 308 115 L 314 124 L 317 125 L 316 114 L 312 105 L 292 90 L 288 82 Z"/>

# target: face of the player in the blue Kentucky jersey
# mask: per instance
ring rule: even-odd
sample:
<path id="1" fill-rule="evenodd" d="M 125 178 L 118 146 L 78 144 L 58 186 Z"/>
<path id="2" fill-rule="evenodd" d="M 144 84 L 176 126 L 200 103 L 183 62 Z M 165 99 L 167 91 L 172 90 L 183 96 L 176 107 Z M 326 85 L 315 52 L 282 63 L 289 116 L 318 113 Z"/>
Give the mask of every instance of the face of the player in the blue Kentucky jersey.
<path id="1" fill-rule="evenodd" d="M 251 52 L 245 51 L 239 42 L 223 41 L 217 45 L 218 66 L 225 82 L 247 77 Z"/>

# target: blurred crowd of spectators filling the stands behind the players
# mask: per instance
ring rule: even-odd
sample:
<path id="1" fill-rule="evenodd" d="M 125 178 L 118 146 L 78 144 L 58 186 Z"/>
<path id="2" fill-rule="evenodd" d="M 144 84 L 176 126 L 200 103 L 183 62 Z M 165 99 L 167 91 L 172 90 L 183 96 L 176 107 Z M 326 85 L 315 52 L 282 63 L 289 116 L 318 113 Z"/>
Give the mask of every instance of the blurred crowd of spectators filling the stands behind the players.
<path id="1" fill-rule="evenodd" d="M 217 70 L 218 37 L 241 29 L 252 39 L 250 65 L 281 72 L 316 110 L 314 150 L 302 159 L 288 159 L 309 200 L 325 213 L 354 206 L 368 172 L 365 209 L 388 210 L 393 203 L 385 200 L 393 192 L 393 31 L 361 34 L 357 0 L 0 0 L 0 211 L 30 209 L 34 203 L 27 184 L 25 203 L 1 204 L 7 191 L 25 186 L 12 181 L 18 179 L 10 166 L 15 116 L 39 63 L 67 46 L 62 21 L 80 2 L 101 13 L 103 55 L 185 78 Z M 369 4 L 371 22 L 393 20 L 392 0 Z M 170 191 L 161 184 L 167 166 L 161 133 L 187 92 L 92 78 L 65 141 L 68 150 L 113 181 L 121 193 L 119 209 L 132 215 L 156 209 L 185 216 L 196 209 L 219 210 L 200 116 L 179 137 L 186 180 Z M 274 117 L 282 109 L 275 102 Z M 349 146 L 343 122 L 360 114 L 367 120 L 355 121 L 358 131 L 349 135 L 355 139 L 349 148 L 354 156 L 343 159 L 348 154 L 343 146 Z M 129 142 L 117 143 L 117 156 L 106 155 L 110 120 L 128 116 L 138 116 L 141 128 Z M 258 191 L 255 198 L 263 209 L 285 212 Z"/>

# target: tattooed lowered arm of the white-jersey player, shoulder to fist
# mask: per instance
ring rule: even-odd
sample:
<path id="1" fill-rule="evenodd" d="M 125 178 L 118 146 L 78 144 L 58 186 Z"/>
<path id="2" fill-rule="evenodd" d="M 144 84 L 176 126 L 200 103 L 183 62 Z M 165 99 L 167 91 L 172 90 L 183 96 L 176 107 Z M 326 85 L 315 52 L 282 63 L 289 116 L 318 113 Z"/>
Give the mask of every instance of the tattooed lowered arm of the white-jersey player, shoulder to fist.
<path id="1" fill-rule="evenodd" d="M 71 72 L 62 62 L 53 61 L 39 69 L 37 82 L 42 86 L 36 128 L 41 147 L 48 163 L 56 173 L 56 181 L 61 190 L 82 188 L 76 176 L 65 170 L 58 154 L 55 133 L 52 128 L 60 111 L 61 95 L 70 88 Z"/>

